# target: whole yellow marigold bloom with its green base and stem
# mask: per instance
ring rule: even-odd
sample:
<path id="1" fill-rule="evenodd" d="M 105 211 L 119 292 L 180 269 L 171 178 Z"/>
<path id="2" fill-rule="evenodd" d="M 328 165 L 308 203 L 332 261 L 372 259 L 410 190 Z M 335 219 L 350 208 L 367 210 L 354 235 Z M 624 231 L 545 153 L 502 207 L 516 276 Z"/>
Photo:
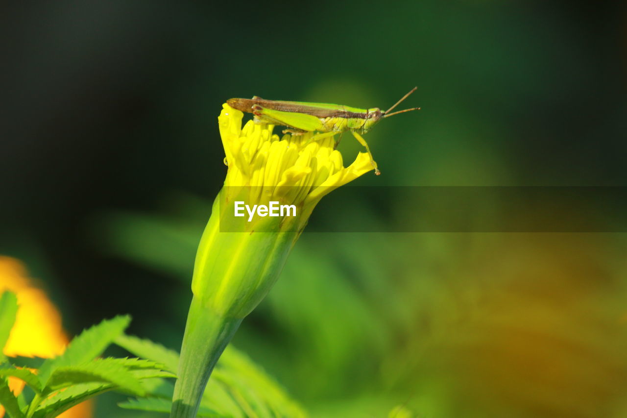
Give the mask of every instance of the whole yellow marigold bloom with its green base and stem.
<path id="1" fill-rule="evenodd" d="M 196 416 L 204 387 L 242 319 L 270 290 L 320 199 L 373 169 L 367 153 L 344 167 L 333 136 L 273 134 L 223 105 L 218 117 L 228 169 L 198 246 L 192 299 L 171 417 Z M 295 216 L 235 218 L 234 203 L 278 201 Z"/>

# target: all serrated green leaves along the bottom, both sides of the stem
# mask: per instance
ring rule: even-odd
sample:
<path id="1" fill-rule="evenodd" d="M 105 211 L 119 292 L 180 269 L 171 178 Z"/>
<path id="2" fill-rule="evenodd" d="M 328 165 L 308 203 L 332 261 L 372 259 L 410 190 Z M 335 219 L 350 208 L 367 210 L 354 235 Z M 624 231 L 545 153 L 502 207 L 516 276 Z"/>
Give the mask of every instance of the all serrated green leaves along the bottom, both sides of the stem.
<path id="1" fill-rule="evenodd" d="M 0 297 L 0 341 L 6 343 L 18 306 L 16 297 Z M 0 404 L 9 418 L 54 418 L 81 402 L 115 390 L 146 396 L 120 404 L 125 409 L 169 413 L 179 355 L 149 340 L 124 334 L 128 316 L 92 326 L 74 338 L 65 353 L 51 359 L 3 357 Z M 115 342 L 142 358 L 97 358 Z M 31 372 L 29 369 L 38 369 Z M 8 377 L 23 380 L 35 396 L 29 405 L 8 386 Z M 305 414 L 263 370 L 245 355 L 227 348 L 206 390 L 199 417 L 301 417 Z"/>

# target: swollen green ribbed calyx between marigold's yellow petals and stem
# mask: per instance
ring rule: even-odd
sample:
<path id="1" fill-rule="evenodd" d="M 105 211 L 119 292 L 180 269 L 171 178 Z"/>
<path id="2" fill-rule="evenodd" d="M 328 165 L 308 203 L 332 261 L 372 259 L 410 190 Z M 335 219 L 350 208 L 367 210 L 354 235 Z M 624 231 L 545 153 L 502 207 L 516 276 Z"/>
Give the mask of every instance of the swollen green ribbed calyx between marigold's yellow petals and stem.
<path id="1" fill-rule="evenodd" d="M 234 202 L 247 201 L 250 193 L 247 187 L 223 187 L 198 244 L 192 293 L 218 318 L 250 314 L 277 281 L 298 238 L 294 228 L 300 217 L 249 223 L 223 215 L 233 213 Z"/>

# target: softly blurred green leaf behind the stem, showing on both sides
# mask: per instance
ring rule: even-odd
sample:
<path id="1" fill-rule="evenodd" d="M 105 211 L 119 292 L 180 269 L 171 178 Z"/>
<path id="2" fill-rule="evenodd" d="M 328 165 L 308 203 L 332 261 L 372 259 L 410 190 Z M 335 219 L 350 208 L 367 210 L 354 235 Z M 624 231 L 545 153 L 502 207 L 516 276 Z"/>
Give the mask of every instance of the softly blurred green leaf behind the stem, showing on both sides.
<path id="1" fill-rule="evenodd" d="M 120 335 L 115 343 L 134 355 L 163 363 L 170 370 L 177 368 L 178 353 L 157 343 L 129 335 Z M 151 389 L 145 386 L 149 399 L 129 400 L 120 407 L 168 413 L 172 405 L 172 385 L 165 381 L 153 383 Z M 250 358 L 228 346 L 209 379 L 198 416 L 263 418 L 306 415 Z"/>

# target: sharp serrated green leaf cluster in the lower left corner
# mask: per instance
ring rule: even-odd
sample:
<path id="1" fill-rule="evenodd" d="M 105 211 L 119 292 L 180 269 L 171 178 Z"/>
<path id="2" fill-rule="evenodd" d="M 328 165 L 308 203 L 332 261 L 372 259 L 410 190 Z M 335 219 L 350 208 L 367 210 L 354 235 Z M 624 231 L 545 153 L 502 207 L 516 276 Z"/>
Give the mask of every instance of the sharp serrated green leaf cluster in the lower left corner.
<path id="1" fill-rule="evenodd" d="M 0 297 L 0 336 L 6 343 L 16 315 L 16 299 Z M 102 355 L 129 325 L 129 316 L 102 321 L 71 341 L 65 353 L 55 358 L 5 357 L 0 364 L 0 404 L 11 418 L 53 418 L 76 404 L 108 390 L 142 396 L 151 388 L 145 380 L 171 378 L 161 363 L 139 358 L 96 358 Z M 24 368 L 28 367 L 28 368 Z M 33 373 L 29 368 L 38 368 Z M 29 405 L 16 397 L 8 377 L 23 380 L 35 396 Z M 153 385 L 154 386 L 154 385 Z"/>

